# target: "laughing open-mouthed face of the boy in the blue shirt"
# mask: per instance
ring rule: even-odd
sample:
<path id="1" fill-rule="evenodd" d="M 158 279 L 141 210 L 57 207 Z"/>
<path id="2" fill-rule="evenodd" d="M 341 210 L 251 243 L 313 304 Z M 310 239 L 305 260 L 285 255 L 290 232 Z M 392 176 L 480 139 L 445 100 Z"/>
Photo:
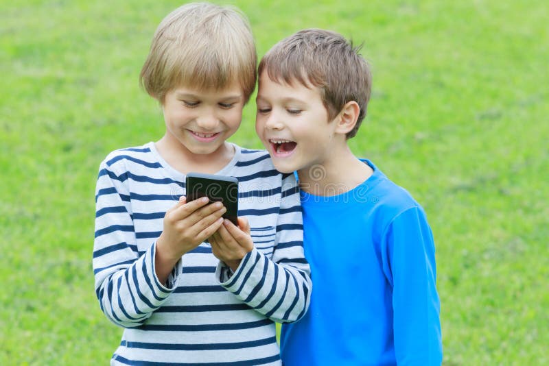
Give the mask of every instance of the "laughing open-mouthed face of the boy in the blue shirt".
<path id="1" fill-rule="evenodd" d="M 336 143 L 336 122 L 316 87 L 307 88 L 272 81 L 266 71 L 259 75 L 255 130 L 268 149 L 277 170 L 299 171 L 324 164 Z"/>

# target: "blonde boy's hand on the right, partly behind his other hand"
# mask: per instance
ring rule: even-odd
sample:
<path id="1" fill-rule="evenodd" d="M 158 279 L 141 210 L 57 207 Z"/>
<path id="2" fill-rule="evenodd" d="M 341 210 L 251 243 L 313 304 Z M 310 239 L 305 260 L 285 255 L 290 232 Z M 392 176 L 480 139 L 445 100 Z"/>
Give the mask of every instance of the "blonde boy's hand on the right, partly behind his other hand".
<path id="1" fill-rule="evenodd" d="M 239 217 L 237 222 L 238 226 L 225 219 L 218 231 L 208 239 L 213 255 L 233 271 L 237 270 L 242 258 L 253 249 L 248 220 Z"/>

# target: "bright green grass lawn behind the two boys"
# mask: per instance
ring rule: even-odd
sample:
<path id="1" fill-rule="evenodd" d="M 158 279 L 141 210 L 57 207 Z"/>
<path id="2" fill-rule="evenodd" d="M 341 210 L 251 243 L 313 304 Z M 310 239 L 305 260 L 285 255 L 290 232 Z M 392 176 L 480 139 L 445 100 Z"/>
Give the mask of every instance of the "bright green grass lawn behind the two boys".
<path id="1" fill-rule="evenodd" d="M 428 213 L 444 364 L 548 364 L 546 1 L 232 3 L 259 56 L 304 27 L 364 42 L 373 99 L 351 147 Z M 119 343 L 93 291 L 95 178 L 163 134 L 138 75 L 179 4 L 0 0 L 1 365 L 104 365 Z M 261 147 L 254 116 L 235 143 Z"/>

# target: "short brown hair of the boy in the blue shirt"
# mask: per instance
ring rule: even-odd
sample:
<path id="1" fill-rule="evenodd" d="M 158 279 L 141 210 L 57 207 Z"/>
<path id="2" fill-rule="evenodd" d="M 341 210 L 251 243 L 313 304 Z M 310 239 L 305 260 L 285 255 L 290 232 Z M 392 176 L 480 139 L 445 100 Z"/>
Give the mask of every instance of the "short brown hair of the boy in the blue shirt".
<path id="1" fill-rule="evenodd" d="M 285 38 L 266 53 L 259 62 L 259 75 L 266 70 L 275 82 L 299 82 L 307 88 L 320 88 L 320 97 L 330 120 L 349 101 L 360 107 L 358 120 L 347 138 L 354 137 L 366 117 L 370 100 L 372 75 L 360 46 L 336 32 L 303 29 Z"/>

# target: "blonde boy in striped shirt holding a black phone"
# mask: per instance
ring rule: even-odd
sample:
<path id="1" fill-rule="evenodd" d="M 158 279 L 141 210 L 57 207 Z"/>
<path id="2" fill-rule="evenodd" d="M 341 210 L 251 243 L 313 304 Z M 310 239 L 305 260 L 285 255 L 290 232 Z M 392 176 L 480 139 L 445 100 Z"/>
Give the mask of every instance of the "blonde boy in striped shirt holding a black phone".
<path id="1" fill-rule="evenodd" d="M 165 134 L 108 154 L 97 178 L 95 291 L 125 328 L 111 365 L 279 365 L 274 321 L 307 309 L 295 178 L 266 151 L 226 141 L 256 60 L 235 8 L 190 3 L 156 29 L 141 84 L 161 104 Z M 186 202 L 191 171 L 238 179 L 238 226 L 219 202 Z"/>

